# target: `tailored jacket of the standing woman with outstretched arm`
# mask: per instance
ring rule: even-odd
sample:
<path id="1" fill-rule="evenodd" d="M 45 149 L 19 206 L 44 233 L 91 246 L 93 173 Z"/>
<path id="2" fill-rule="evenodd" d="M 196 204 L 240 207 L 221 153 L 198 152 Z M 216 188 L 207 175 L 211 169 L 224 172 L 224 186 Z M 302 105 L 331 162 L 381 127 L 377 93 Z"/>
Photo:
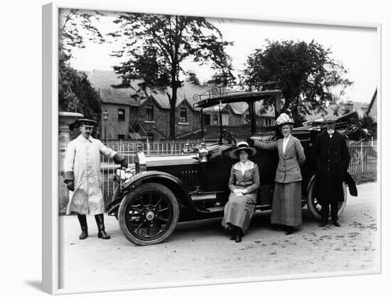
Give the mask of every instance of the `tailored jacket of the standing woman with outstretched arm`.
<path id="1" fill-rule="evenodd" d="M 300 140 L 291 135 L 284 153 L 282 147 L 283 142 L 283 139 L 274 142 L 260 142 L 255 140 L 254 147 L 263 150 L 278 150 L 279 162 L 274 182 L 282 184 L 300 182 L 302 180 L 300 166 L 306 161 L 304 149 L 301 146 Z"/>

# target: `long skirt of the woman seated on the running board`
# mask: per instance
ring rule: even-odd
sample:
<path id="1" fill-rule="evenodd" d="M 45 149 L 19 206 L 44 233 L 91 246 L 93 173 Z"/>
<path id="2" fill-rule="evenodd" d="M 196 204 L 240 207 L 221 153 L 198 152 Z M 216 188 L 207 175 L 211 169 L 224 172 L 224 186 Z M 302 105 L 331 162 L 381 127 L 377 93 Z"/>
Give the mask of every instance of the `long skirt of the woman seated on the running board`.
<path id="1" fill-rule="evenodd" d="M 246 194 L 239 197 L 231 193 L 224 207 L 224 217 L 223 222 L 221 222 L 223 227 L 227 229 L 232 224 L 242 229 L 243 234 L 245 234 L 255 212 L 256 199 L 256 195 Z"/>

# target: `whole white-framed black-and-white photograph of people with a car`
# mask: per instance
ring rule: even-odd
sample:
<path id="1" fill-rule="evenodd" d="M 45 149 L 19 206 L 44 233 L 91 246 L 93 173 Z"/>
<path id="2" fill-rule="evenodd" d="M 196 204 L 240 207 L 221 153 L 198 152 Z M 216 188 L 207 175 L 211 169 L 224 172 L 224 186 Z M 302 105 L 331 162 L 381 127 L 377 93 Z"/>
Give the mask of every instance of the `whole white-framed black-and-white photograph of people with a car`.
<path id="1" fill-rule="evenodd" d="M 380 34 L 43 6 L 43 291 L 380 273 Z"/>

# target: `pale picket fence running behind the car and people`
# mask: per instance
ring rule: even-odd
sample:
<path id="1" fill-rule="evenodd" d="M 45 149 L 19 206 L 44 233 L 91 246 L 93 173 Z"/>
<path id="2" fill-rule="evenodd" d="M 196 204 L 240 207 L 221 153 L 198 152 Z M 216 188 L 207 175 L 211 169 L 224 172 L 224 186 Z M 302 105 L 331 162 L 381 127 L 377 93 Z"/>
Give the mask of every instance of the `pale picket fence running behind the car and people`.
<path id="1" fill-rule="evenodd" d="M 176 155 L 181 154 L 186 143 L 190 147 L 200 145 L 201 140 L 164 140 L 164 141 L 107 141 L 105 145 L 127 158 L 130 164 L 134 163 L 134 157 L 139 147 L 146 155 Z M 350 174 L 363 174 L 367 172 L 376 172 L 377 170 L 377 141 L 367 142 L 348 142 L 350 152 Z M 109 200 L 114 192 L 115 184 L 112 180 L 114 165 L 112 160 L 102 157 L 102 190 L 105 200 Z M 65 187 L 65 184 L 60 183 Z"/>

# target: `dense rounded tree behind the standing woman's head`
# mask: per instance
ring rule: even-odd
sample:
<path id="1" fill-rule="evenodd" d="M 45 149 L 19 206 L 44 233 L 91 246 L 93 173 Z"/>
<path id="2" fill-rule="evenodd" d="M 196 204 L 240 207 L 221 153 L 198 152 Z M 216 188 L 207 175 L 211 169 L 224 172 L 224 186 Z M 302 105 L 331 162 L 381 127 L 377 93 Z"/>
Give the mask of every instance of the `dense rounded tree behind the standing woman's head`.
<path id="1" fill-rule="evenodd" d="M 278 81 L 284 99 L 282 111 L 290 110 L 297 124 L 311 110 L 323 110 L 338 100 L 352 84 L 344 78 L 343 64 L 331 57 L 331 50 L 311 41 L 269 41 L 248 58 L 244 83 Z M 264 88 L 275 88 L 266 85 Z M 272 98 L 264 105 L 272 105 Z"/>

